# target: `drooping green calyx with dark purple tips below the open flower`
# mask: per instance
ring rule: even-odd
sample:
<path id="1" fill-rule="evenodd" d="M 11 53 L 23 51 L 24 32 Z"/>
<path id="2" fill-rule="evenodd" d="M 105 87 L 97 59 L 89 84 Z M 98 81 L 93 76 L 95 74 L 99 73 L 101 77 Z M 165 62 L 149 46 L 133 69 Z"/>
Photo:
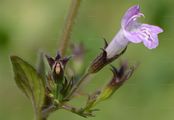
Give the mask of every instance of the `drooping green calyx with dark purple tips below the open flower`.
<path id="1" fill-rule="evenodd" d="M 129 67 L 126 62 L 122 63 L 119 69 L 116 69 L 114 66 L 111 67 L 111 71 L 113 73 L 112 79 L 103 89 L 97 90 L 88 97 L 85 110 L 91 110 L 97 103 L 111 97 L 113 93 L 115 93 L 115 91 L 131 77 L 135 69 L 134 66 Z"/>

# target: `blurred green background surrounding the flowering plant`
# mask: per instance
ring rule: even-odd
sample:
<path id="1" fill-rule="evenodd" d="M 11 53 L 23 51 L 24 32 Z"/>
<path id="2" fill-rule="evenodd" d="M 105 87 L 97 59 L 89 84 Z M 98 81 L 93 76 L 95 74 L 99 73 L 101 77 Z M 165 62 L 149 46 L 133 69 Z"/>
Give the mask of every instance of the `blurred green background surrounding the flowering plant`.
<path id="1" fill-rule="evenodd" d="M 17 88 L 10 55 L 35 65 L 38 50 L 54 55 L 71 0 L 0 0 L 0 120 L 32 120 L 31 103 Z M 97 106 L 101 111 L 89 120 L 173 120 L 174 119 L 174 1 L 173 0 L 83 0 L 71 41 L 86 46 L 85 65 L 100 52 L 103 37 L 112 39 L 120 19 L 132 5 L 139 4 L 142 21 L 162 27 L 160 45 L 148 50 L 131 44 L 120 58 L 140 62 L 126 84 L 114 96 Z M 117 64 L 115 61 L 113 64 Z M 108 66 L 93 76 L 87 90 L 106 83 L 112 74 Z M 77 103 L 81 104 L 84 102 Z M 85 120 L 60 110 L 49 120 Z"/>

